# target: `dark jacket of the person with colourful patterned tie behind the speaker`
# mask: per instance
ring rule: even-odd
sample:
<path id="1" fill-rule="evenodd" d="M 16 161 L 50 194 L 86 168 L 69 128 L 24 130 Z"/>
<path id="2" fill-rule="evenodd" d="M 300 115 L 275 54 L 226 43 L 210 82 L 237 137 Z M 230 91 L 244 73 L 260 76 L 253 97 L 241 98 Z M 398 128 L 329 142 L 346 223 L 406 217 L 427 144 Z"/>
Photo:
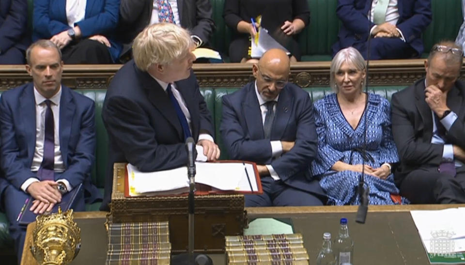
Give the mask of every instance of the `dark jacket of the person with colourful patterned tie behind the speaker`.
<path id="1" fill-rule="evenodd" d="M 215 24 L 210 0 L 177 0 L 181 27 L 208 43 Z M 152 17 L 153 0 L 121 0 L 120 25 L 123 53 L 131 48 L 134 38 L 147 27 Z"/>

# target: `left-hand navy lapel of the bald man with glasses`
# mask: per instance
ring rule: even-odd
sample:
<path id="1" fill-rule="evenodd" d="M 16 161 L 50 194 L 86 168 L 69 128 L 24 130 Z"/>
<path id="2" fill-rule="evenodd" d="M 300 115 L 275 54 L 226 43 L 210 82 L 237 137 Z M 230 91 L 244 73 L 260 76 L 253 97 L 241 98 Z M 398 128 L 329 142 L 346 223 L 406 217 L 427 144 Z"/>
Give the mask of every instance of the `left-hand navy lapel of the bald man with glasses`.
<path id="1" fill-rule="evenodd" d="M 258 103 L 257 94 L 255 93 L 255 83 L 248 84 L 248 93 L 242 103 L 242 115 L 245 117 L 250 139 L 263 139 L 263 120 L 262 111 Z"/>

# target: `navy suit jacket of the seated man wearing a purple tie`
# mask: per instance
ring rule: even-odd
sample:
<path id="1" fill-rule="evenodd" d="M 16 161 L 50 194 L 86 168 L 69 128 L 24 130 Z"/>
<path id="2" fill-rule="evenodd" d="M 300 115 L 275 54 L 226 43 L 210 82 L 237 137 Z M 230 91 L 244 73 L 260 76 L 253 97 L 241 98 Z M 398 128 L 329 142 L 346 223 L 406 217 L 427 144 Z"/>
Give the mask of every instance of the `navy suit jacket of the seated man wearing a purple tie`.
<path id="1" fill-rule="evenodd" d="M 36 172 L 31 171 L 36 143 L 35 116 L 32 83 L 1 94 L 0 155 L 6 182 L 0 182 L 0 195 L 5 185 L 21 189 L 28 178 L 36 177 Z M 72 187 L 83 183 L 90 196 L 87 202 L 101 198 L 90 179 L 95 152 L 94 102 L 64 85 L 60 99 L 60 150 L 66 170 L 59 178 L 66 179 Z"/>

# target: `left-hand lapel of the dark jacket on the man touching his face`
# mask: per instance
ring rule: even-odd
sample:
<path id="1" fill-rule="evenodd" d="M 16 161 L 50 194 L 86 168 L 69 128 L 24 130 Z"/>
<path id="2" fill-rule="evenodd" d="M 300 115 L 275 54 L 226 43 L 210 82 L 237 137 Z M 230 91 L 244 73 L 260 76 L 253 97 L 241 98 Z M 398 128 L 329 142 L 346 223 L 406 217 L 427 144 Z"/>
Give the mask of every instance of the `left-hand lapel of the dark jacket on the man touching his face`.
<path id="1" fill-rule="evenodd" d="M 418 109 L 418 113 L 421 116 L 422 123 L 418 124 L 416 128 L 418 131 L 424 131 L 424 138 L 431 141 L 433 137 L 433 114 L 431 109 L 425 101 L 425 82 L 424 79 L 418 81 L 415 86 L 415 106 Z"/>

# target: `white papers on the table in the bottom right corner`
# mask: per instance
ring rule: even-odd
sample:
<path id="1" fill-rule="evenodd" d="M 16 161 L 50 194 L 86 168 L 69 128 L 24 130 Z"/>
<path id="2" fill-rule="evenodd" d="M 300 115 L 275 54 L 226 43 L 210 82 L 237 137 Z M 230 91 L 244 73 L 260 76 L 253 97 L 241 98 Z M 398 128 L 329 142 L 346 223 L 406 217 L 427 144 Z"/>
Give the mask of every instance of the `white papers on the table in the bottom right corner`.
<path id="1" fill-rule="evenodd" d="M 465 207 L 410 214 L 431 264 L 465 263 Z"/>

